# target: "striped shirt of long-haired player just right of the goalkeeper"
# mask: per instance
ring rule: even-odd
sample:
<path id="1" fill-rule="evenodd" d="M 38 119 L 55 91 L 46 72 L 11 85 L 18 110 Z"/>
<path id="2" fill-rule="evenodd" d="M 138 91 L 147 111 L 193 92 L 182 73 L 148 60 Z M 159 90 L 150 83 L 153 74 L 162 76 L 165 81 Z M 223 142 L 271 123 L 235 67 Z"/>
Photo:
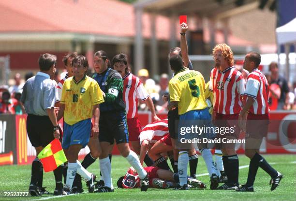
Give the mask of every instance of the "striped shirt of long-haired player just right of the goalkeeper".
<path id="1" fill-rule="evenodd" d="M 139 77 L 128 73 L 122 79 L 123 101 L 125 102 L 127 119 L 132 119 L 138 116 L 138 99 L 146 100 L 149 97 L 149 93 L 144 88 Z"/>

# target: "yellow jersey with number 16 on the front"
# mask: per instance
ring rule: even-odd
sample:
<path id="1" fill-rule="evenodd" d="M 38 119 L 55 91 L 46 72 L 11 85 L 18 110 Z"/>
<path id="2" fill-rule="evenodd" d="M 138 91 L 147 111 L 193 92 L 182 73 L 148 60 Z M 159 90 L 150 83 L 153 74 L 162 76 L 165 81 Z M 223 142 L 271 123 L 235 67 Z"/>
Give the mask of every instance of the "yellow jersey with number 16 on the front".
<path id="1" fill-rule="evenodd" d="M 65 104 L 64 121 L 69 125 L 92 118 L 93 105 L 104 102 L 99 84 L 85 76 L 79 82 L 74 77 L 65 80 L 61 95 L 61 104 Z"/>

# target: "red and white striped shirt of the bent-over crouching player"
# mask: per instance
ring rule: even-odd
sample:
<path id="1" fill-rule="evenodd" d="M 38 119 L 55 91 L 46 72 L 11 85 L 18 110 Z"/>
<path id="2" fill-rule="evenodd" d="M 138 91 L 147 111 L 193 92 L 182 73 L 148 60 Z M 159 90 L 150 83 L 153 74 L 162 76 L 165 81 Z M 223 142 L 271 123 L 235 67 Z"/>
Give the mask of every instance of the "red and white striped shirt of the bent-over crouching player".
<path id="1" fill-rule="evenodd" d="M 140 133 L 140 144 L 144 139 L 147 139 L 150 143 L 155 143 L 162 139 L 163 136 L 168 135 L 167 119 L 159 120 L 151 124 L 147 124 Z"/>

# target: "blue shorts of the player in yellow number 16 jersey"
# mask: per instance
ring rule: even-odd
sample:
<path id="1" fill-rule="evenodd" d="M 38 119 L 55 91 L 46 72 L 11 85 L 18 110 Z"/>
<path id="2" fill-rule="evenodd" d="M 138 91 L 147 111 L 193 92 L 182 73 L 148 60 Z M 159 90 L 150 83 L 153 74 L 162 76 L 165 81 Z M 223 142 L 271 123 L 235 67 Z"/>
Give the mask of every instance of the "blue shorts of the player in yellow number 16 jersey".
<path id="1" fill-rule="evenodd" d="M 81 144 L 82 148 L 89 143 L 91 120 L 86 119 L 69 125 L 64 122 L 62 148 L 68 149 L 70 145 Z"/>

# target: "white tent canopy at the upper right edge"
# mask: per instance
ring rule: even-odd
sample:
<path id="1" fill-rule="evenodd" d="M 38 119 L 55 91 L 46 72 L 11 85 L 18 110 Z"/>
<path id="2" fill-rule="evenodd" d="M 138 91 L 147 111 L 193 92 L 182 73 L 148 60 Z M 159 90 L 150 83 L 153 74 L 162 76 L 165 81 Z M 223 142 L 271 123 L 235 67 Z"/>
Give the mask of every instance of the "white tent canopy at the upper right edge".
<path id="1" fill-rule="evenodd" d="M 296 18 L 276 29 L 279 45 L 296 43 Z"/>

